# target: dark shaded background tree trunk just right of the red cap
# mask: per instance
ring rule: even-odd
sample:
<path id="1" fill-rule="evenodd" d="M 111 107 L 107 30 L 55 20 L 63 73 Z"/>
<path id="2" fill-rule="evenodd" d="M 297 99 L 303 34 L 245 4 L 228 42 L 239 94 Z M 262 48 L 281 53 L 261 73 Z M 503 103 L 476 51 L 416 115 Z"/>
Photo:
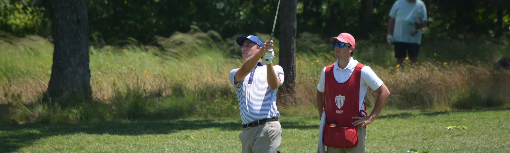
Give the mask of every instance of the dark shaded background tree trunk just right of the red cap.
<path id="1" fill-rule="evenodd" d="M 363 35 L 367 35 L 371 30 L 372 12 L 374 10 L 373 0 L 361 0 L 361 11 L 360 11 L 360 32 Z"/>

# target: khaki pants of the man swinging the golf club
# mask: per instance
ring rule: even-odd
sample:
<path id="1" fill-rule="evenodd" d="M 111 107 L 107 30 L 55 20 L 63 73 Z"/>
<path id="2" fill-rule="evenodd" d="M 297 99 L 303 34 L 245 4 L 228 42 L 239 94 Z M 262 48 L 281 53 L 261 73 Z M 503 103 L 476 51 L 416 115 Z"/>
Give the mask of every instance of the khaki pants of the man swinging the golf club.
<path id="1" fill-rule="evenodd" d="M 282 126 L 279 121 L 269 121 L 264 125 L 244 128 L 239 139 L 243 144 L 242 153 L 276 153 L 282 144 Z"/>

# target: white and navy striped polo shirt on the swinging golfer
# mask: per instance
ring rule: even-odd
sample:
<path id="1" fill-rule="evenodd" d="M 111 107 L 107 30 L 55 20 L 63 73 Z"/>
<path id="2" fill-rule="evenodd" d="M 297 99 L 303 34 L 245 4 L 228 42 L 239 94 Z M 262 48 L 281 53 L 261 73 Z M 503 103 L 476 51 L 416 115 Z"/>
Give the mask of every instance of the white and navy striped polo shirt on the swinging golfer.
<path id="1" fill-rule="evenodd" d="M 237 85 L 234 84 L 234 76 L 239 68 L 233 69 L 230 71 L 230 74 L 228 74 L 228 79 L 236 90 L 239 101 L 239 112 L 241 113 L 241 121 L 243 124 L 264 118 L 280 116 L 280 113 L 276 109 L 276 92 L 278 89 L 271 90 L 269 88 L 266 66 L 264 62 L 257 63 L 257 67 L 246 75 L 244 80 Z M 283 68 L 279 65 L 274 65 L 273 69 L 283 84 Z"/>

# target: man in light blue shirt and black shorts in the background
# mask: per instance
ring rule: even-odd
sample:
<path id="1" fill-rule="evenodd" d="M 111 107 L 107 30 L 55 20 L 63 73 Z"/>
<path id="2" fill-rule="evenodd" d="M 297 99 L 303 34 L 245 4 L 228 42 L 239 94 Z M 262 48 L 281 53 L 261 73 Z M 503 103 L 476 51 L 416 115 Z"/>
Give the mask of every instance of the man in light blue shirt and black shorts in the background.
<path id="1" fill-rule="evenodd" d="M 409 55 L 411 65 L 418 62 L 421 45 L 421 28 L 427 25 L 427 9 L 421 0 L 397 0 L 390 11 L 388 20 L 389 44 L 394 44 L 397 64 Z"/>

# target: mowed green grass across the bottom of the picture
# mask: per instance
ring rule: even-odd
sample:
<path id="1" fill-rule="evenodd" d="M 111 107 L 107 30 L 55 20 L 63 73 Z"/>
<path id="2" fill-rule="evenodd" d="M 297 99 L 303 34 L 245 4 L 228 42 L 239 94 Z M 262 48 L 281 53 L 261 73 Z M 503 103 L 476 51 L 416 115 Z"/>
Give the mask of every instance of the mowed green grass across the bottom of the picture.
<path id="1" fill-rule="evenodd" d="M 285 112 L 285 110 L 283 111 Z M 281 117 L 282 152 L 315 152 L 317 115 Z M 310 112 L 309 114 L 314 114 Z M 367 129 L 367 152 L 510 152 L 509 108 L 385 110 Z M 179 119 L 0 127 L 2 152 L 240 152 L 240 119 Z M 465 130 L 450 129 L 464 125 Z"/>

